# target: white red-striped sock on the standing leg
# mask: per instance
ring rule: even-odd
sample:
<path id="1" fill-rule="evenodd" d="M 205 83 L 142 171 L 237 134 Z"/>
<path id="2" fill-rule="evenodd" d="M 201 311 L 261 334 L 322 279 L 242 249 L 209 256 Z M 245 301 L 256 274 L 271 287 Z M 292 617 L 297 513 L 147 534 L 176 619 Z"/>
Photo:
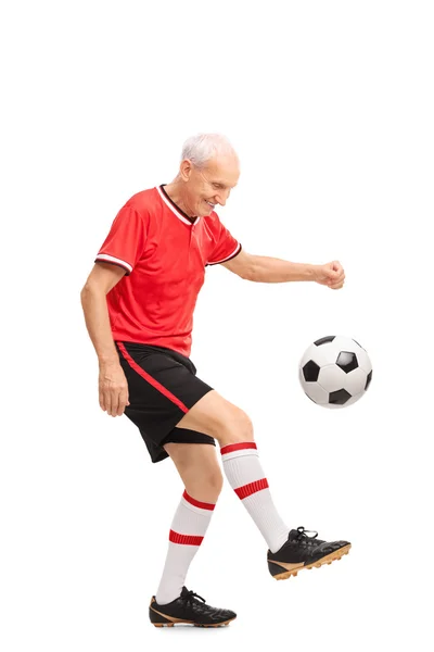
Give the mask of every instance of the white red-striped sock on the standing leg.
<path id="1" fill-rule="evenodd" d="M 187 572 L 208 528 L 216 505 L 183 492 L 169 532 L 169 548 L 155 600 L 167 604 L 181 594 Z"/>

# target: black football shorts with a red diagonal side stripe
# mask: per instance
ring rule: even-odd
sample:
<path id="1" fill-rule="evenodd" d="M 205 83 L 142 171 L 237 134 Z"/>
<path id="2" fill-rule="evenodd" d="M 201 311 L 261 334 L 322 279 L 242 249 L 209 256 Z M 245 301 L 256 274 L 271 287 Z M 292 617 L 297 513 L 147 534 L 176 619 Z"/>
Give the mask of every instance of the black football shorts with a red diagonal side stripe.
<path id="1" fill-rule="evenodd" d="M 213 387 L 196 377 L 189 358 L 164 347 L 115 342 L 128 381 L 125 414 L 139 428 L 152 462 L 168 454 L 168 442 L 210 443 L 213 437 L 176 425 Z"/>

